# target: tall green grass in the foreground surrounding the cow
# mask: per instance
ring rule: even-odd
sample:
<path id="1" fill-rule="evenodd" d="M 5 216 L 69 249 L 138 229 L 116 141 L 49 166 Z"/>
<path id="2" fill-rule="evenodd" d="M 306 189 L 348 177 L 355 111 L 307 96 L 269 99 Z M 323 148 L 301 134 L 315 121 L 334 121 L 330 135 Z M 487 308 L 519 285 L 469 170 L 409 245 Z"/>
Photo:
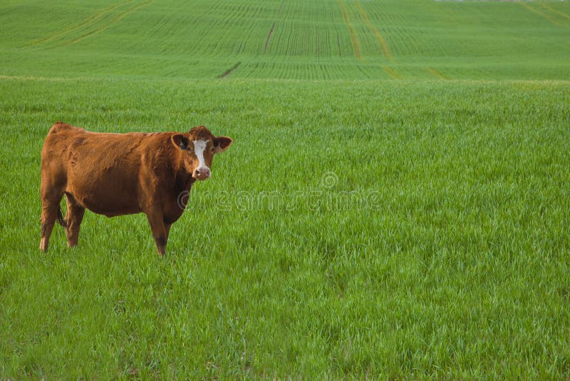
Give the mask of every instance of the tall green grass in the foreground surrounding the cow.
<path id="1" fill-rule="evenodd" d="M 567 83 L 0 83 L 4 376 L 569 377 Z M 56 119 L 235 143 L 165 258 L 93 213 L 44 255 Z"/>

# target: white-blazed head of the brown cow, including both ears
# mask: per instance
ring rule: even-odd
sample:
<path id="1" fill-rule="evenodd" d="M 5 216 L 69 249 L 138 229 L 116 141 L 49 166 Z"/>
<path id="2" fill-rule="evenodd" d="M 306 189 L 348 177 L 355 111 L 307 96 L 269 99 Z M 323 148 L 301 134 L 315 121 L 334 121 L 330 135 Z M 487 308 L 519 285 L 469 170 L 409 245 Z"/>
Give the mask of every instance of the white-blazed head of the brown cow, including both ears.
<path id="1" fill-rule="evenodd" d="M 214 153 L 227 150 L 232 139 L 227 136 L 214 136 L 204 126 L 192 128 L 188 133 L 172 135 L 172 144 L 184 155 L 184 163 L 188 173 L 196 180 L 209 178 Z"/>

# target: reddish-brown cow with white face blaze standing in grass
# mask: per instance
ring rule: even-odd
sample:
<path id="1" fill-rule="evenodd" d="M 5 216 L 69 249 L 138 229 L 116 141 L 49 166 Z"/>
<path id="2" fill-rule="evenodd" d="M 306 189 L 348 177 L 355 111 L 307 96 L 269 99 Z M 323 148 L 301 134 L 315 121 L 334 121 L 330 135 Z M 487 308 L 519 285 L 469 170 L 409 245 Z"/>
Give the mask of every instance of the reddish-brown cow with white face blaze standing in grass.
<path id="1" fill-rule="evenodd" d="M 76 246 L 88 208 L 108 217 L 145 213 L 163 255 L 170 226 L 184 211 L 179 196 L 209 178 L 212 156 L 231 144 L 204 126 L 188 133 L 95 133 L 57 122 L 41 150 L 40 249 L 48 250 L 56 219 L 66 228 L 68 246 Z"/>

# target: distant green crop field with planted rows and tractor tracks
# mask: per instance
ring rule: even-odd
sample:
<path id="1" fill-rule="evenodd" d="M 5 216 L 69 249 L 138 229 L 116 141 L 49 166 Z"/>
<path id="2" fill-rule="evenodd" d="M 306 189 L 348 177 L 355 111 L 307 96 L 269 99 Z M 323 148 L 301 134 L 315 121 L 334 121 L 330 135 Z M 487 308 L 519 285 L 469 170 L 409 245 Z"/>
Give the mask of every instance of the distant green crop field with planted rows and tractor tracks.
<path id="1" fill-rule="evenodd" d="M 0 12 L 11 76 L 570 77 L 564 1 L 4 1 Z"/>

